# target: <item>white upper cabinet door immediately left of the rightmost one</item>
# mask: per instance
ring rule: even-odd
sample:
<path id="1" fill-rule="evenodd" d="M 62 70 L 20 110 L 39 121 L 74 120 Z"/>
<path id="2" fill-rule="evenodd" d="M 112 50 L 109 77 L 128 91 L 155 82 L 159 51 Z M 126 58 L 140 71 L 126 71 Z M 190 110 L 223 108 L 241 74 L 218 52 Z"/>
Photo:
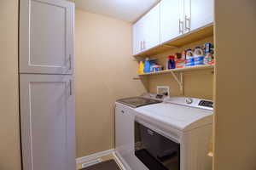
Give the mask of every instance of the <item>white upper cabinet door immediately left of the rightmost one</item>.
<path id="1" fill-rule="evenodd" d="M 183 1 L 160 2 L 160 42 L 168 42 L 183 34 Z"/>

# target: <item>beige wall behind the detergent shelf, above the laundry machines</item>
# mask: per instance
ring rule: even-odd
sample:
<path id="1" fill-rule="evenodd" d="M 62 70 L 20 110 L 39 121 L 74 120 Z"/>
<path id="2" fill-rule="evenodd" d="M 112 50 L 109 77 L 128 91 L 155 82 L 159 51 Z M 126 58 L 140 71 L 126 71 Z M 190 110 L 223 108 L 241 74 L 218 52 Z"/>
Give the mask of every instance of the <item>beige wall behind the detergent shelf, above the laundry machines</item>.
<path id="1" fill-rule="evenodd" d="M 184 49 L 202 46 L 206 42 L 213 42 L 213 37 L 207 37 L 197 42 L 189 43 L 181 48 L 174 48 L 163 54 L 155 55 L 151 58 L 158 59 L 160 65 L 166 65 L 166 57 L 170 54 L 181 53 Z M 189 96 L 201 99 L 212 99 L 213 74 L 211 70 L 184 72 L 184 94 L 181 94 L 177 82 L 172 74 L 154 75 L 148 77 L 148 88 L 150 92 L 156 93 L 157 86 L 169 86 L 171 95 Z"/>

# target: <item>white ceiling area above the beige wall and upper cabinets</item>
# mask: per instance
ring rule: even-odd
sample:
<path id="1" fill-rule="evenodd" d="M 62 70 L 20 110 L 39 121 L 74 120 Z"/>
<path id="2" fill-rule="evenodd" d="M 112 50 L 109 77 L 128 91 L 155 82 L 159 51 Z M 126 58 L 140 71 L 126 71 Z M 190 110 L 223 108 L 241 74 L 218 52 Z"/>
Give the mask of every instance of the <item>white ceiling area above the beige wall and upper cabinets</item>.
<path id="1" fill-rule="evenodd" d="M 160 0 L 75 0 L 76 8 L 135 22 Z"/>

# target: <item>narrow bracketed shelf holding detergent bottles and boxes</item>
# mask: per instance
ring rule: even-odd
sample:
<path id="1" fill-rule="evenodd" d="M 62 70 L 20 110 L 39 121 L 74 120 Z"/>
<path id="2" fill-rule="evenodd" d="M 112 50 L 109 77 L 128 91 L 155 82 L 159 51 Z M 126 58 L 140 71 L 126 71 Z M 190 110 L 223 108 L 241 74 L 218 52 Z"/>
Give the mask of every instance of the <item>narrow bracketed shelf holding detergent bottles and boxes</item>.
<path id="1" fill-rule="evenodd" d="M 166 70 L 166 71 L 148 72 L 144 74 L 139 74 L 139 76 L 159 75 L 159 74 L 166 74 L 166 73 L 172 73 L 172 72 L 211 70 L 211 69 L 212 70 L 214 69 L 214 65 L 196 65 L 196 66 L 189 66 L 189 67 Z"/>

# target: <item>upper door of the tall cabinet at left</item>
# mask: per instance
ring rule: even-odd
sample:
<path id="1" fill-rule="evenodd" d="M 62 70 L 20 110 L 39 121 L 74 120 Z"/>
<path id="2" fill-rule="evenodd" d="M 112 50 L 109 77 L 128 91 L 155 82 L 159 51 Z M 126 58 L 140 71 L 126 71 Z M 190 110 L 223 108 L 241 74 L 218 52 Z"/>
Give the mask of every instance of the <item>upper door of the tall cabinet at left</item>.
<path id="1" fill-rule="evenodd" d="M 20 73 L 73 73 L 73 13 L 65 0 L 20 0 Z"/>

